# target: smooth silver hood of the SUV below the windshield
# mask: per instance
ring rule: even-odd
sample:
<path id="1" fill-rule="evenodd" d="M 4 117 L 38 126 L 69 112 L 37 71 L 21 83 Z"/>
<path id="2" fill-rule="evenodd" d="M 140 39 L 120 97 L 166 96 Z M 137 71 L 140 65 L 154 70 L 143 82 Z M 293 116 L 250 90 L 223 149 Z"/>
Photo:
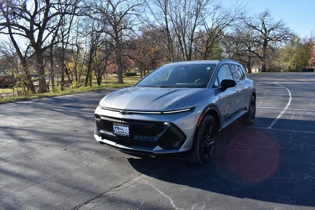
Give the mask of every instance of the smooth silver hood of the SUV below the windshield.
<path id="1" fill-rule="evenodd" d="M 181 102 L 203 91 L 203 88 L 129 87 L 105 96 L 99 105 L 125 110 L 173 110 Z"/>

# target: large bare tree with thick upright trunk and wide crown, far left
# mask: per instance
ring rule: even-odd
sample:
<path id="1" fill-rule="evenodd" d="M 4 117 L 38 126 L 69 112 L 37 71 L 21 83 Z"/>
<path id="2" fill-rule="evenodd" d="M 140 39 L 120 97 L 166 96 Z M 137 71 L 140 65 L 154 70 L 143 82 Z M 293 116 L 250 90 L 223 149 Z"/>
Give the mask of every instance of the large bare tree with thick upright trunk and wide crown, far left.
<path id="1" fill-rule="evenodd" d="M 50 44 L 45 45 L 45 41 L 59 28 L 58 16 L 62 13 L 70 13 L 63 8 L 71 3 L 73 3 L 72 0 L 63 2 L 34 0 L 32 7 L 28 6 L 27 0 L 4 0 L 1 3 L 1 13 L 5 21 L 0 23 L 0 27 L 6 29 L 1 30 L 1 33 L 9 35 L 13 43 L 16 43 L 16 36 L 24 37 L 29 41 L 26 51 L 30 47 L 34 50 L 39 93 L 48 91 L 43 53 L 50 47 Z M 20 51 L 18 47 L 16 49 Z"/>

